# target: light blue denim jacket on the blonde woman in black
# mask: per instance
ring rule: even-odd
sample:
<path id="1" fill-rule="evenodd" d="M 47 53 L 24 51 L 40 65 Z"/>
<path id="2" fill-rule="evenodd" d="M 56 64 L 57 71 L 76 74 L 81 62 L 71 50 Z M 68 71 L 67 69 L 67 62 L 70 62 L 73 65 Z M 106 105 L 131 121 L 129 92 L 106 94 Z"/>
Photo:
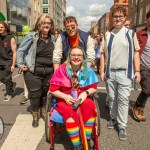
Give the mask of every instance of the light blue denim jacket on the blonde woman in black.
<path id="1" fill-rule="evenodd" d="M 54 36 L 51 35 L 51 38 L 54 43 Z M 34 73 L 38 39 L 38 32 L 30 32 L 22 40 L 17 50 L 17 66 L 19 68 L 27 66 L 29 68 L 29 71 Z"/>

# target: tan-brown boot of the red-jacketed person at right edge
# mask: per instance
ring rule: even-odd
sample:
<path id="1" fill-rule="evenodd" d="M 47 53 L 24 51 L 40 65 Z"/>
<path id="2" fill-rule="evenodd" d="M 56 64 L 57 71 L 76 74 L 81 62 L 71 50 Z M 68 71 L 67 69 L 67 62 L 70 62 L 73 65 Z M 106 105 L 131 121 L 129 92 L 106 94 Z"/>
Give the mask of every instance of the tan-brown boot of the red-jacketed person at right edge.
<path id="1" fill-rule="evenodd" d="M 143 111 L 143 108 L 142 107 L 137 107 L 137 106 L 134 106 L 132 108 L 132 112 L 133 112 L 133 116 L 134 118 L 137 120 L 137 121 L 146 121 L 146 118 L 144 116 L 144 111 Z"/>

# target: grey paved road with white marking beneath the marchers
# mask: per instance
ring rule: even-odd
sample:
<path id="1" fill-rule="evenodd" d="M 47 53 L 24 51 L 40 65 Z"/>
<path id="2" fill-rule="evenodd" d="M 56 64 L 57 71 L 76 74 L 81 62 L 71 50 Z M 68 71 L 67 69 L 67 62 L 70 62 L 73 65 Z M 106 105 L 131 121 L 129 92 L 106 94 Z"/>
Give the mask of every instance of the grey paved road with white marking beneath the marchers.
<path id="1" fill-rule="evenodd" d="M 23 93 L 22 75 L 17 74 L 17 69 L 13 74 L 13 80 L 17 82 L 14 98 L 10 102 L 3 102 L 5 87 L 0 83 L 0 116 L 4 120 L 4 135 L 0 139 L 1 150 L 48 150 L 49 143 L 45 142 L 44 122 L 40 119 L 40 126 L 32 128 L 32 116 L 30 114 L 29 102 L 20 105 L 19 101 Z M 104 83 L 100 84 L 99 107 L 101 113 L 101 150 L 149 150 L 150 149 L 150 102 L 148 101 L 145 114 L 147 122 L 136 122 L 133 120 L 131 106 L 134 104 L 139 91 L 132 91 L 129 109 L 129 121 L 127 128 L 127 140 L 118 139 L 117 128 L 107 129 L 109 120 L 108 110 L 105 108 L 106 90 Z M 71 143 L 66 132 L 60 134 L 59 140 L 56 141 L 56 150 L 71 150 Z"/>

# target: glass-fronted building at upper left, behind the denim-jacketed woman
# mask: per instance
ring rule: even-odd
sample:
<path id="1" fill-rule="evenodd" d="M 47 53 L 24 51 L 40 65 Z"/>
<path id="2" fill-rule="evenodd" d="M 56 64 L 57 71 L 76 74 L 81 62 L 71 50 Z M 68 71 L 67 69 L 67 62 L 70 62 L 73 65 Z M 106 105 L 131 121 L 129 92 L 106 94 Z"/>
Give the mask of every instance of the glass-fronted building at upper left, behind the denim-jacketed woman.
<path id="1" fill-rule="evenodd" d="M 6 2 L 7 23 L 19 43 L 22 39 L 22 27 L 28 24 L 29 0 L 7 0 Z"/>

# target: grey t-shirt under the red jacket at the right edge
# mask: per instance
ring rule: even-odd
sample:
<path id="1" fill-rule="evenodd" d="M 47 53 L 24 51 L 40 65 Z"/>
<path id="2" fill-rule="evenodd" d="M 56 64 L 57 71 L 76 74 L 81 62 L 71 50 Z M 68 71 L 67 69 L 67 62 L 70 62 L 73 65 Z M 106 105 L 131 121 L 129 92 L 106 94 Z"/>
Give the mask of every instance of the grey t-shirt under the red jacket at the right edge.
<path id="1" fill-rule="evenodd" d="M 147 43 L 141 55 L 141 64 L 145 68 L 150 69 L 150 32 L 148 32 Z"/>

